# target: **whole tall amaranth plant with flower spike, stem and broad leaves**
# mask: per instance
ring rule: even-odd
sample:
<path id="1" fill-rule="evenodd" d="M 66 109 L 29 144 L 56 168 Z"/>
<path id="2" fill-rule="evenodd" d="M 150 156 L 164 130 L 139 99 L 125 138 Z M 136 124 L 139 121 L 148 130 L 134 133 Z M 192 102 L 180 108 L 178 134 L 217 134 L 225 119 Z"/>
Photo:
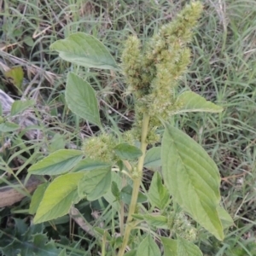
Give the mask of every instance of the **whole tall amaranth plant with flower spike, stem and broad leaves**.
<path id="1" fill-rule="evenodd" d="M 127 93 L 134 96 L 135 120 L 131 131 L 108 132 L 93 88 L 76 73 L 67 74 L 68 108 L 101 133 L 85 139 L 81 150 L 55 151 L 29 168 L 31 174 L 51 177 L 32 197 L 35 224 L 67 214 L 81 200 L 103 197 L 119 212 L 120 237 L 94 228 L 100 234 L 96 238 L 102 255 L 161 255 L 156 241 L 164 255 L 202 255 L 193 242 L 197 234 L 192 219 L 218 240 L 224 239 L 232 219 L 220 206 L 218 167 L 173 122 L 178 113 L 223 110 L 192 91 L 177 92 L 190 61 L 187 44 L 201 11 L 201 3 L 187 5 L 144 45 L 136 36 L 129 37 L 120 65 L 101 42 L 82 32 L 51 45 L 74 65 L 123 73 Z M 161 172 L 155 171 L 157 167 Z M 142 183 L 143 168 L 154 170 L 149 189 Z M 167 236 L 157 235 L 155 229 L 165 230 Z"/>

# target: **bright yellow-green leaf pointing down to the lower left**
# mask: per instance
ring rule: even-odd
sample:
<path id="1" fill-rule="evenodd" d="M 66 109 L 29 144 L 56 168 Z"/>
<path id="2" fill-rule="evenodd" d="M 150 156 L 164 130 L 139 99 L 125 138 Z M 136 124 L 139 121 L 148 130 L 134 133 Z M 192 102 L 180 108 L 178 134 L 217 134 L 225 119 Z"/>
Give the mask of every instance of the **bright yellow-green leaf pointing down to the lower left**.
<path id="1" fill-rule="evenodd" d="M 73 203 L 79 201 L 78 183 L 84 172 L 67 173 L 56 177 L 44 192 L 34 223 L 42 223 L 64 216 Z"/>

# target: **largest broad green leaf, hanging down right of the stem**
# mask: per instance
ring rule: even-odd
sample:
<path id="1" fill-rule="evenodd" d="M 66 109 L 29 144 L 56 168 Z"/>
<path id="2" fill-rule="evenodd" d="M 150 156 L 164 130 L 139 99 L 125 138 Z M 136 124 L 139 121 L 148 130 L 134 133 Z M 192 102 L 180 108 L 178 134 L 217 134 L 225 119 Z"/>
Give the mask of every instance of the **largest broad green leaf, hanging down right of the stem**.
<path id="1" fill-rule="evenodd" d="M 171 125 L 162 139 L 162 172 L 173 200 L 218 240 L 224 239 L 219 205 L 218 167 L 198 143 Z"/>

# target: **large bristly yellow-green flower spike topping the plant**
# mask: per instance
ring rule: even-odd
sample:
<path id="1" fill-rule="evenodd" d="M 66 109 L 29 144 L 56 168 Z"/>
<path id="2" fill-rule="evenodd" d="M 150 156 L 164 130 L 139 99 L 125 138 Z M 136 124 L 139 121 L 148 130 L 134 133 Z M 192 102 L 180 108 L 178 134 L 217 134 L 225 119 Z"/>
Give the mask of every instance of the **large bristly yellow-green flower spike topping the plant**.
<path id="1" fill-rule="evenodd" d="M 144 46 L 136 36 L 125 42 L 122 69 L 128 91 L 136 98 L 135 134 L 140 134 L 143 113 L 148 113 L 148 143 L 154 142 L 160 119 L 168 119 L 181 107 L 175 103 L 175 88 L 189 65 L 190 49 L 186 45 L 201 11 L 200 2 L 191 3 Z"/>

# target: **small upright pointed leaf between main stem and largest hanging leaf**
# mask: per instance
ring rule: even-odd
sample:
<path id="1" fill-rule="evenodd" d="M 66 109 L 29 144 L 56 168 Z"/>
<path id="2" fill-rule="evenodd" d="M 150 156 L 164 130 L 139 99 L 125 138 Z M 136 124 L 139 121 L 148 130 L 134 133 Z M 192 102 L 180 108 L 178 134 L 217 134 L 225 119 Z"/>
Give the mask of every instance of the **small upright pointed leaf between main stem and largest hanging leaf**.
<path id="1" fill-rule="evenodd" d="M 160 208 L 160 210 L 164 210 L 166 205 L 169 203 L 169 198 L 169 192 L 162 184 L 160 173 L 154 172 L 154 176 L 148 190 L 148 199 L 151 205 Z"/>

